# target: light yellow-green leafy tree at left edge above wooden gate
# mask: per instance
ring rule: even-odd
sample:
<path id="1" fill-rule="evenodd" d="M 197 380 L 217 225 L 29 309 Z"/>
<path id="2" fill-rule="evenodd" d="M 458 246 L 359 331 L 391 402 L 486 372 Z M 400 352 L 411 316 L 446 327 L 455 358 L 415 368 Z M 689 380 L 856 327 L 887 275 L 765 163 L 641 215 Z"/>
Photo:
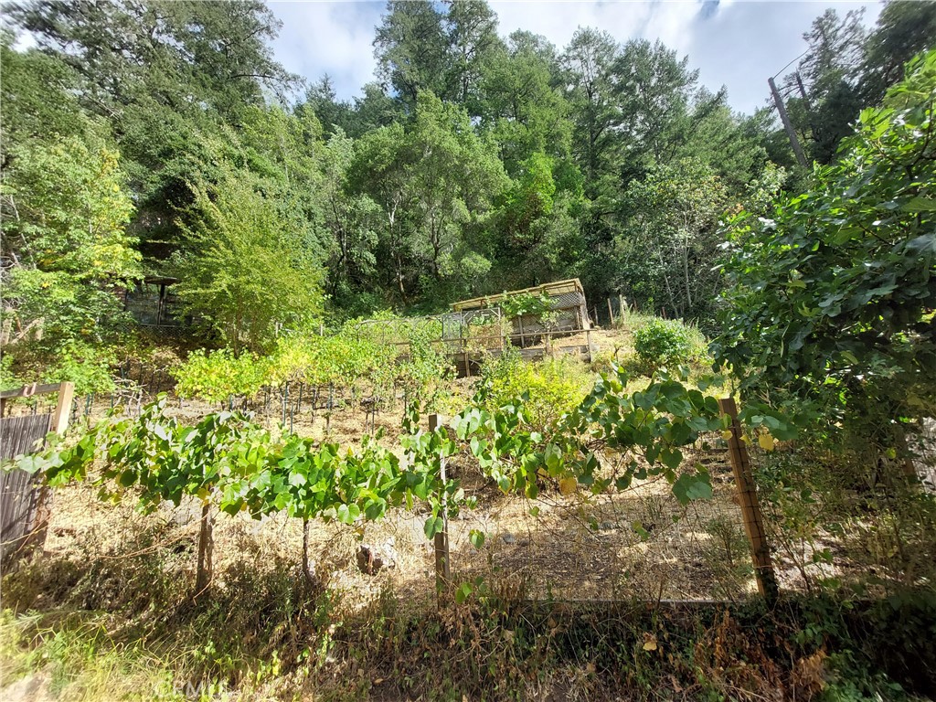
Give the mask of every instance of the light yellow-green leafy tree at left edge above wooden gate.
<path id="1" fill-rule="evenodd" d="M 13 150 L 3 181 L 5 356 L 29 380 L 112 387 L 119 292 L 140 276 L 119 155 L 78 137 Z"/>

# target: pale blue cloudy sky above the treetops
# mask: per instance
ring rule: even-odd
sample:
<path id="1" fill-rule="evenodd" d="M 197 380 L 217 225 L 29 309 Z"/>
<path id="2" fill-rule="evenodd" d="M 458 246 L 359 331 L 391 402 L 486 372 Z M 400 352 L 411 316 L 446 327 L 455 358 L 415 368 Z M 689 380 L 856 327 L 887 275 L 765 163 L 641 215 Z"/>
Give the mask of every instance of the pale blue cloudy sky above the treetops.
<path id="1" fill-rule="evenodd" d="M 723 85 L 734 110 L 750 113 L 767 104 L 767 80 L 805 51 L 803 32 L 826 7 L 840 14 L 865 7 L 873 24 L 877 3 L 773 0 L 489 0 L 507 37 L 525 29 L 547 37 L 562 51 L 579 26 L 609 32 L 621 42 L 661 39 L 689 56 L 699 80 L 715 91 Z M 370 0 L 269 0 L 283 22 L 274 42 L 277 59 L 314 82 L 328 74 L 341 99 L 360 95 L 373 80 L 374 28 L 386 3 Z"/>

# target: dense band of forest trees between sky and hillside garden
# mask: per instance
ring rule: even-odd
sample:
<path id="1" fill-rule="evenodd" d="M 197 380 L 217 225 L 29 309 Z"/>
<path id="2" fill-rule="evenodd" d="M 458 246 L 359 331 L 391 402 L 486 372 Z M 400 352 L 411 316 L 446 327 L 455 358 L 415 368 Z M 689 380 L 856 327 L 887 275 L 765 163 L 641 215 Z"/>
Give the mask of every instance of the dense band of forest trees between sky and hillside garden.
<path id="1" fill-rule="evenodd" d="M 483 0 L 389 2 L 374 28 L 376 80 L 350 101 L 328 76 L 301 90 L 273 58 L 279 23 L 258 0 L 7 9 L 0 159 L 4 216 L 21 218 L 17 265 L 41 270 L 21 255 L 48 238 L 16 194 L 30 169 L 61 152 L 56 178 L 75 180 L 57 195 L 69 197 L 85 177 L 73 167 L 103 158 L 127 195 L 110 209 L 127 254 L 114 260 L 134 261 L 122 280 L 194 275 L 183 285 L 193 311 L 215 244 L 262 209 L 256 229 L 270 237 L 245 224 L 237 241 L 272 256 L 286 246 L 288 270 L 314 281 L 303 295 L 337 316 L 436 311 L 577 275 L 592 298 L 621 293 L 711 326 L 724 212 L 755 206 L 752 194 L 784 173 L 788 187 L 812 178 L 768 110 L 733 112 L 689 57 L 588 27 L 563 48 L 503 37 Z M 856 14 L 817 18 L 797 66 L 802 92 L 795 75 L 786 90 L 812 158 L 840 158 L 858 111 L 931 46 L 933 22 L 931 4 L 909 3 L 885 5 L 870 30 Z M 13 49 L 18 31 L 36 46 Z M 32 194 L 43 207 L 51 196 Z M 279 315 L 263 324 L 286 323 Z M 256 333 L 241 341 L 259 343 Z"/>

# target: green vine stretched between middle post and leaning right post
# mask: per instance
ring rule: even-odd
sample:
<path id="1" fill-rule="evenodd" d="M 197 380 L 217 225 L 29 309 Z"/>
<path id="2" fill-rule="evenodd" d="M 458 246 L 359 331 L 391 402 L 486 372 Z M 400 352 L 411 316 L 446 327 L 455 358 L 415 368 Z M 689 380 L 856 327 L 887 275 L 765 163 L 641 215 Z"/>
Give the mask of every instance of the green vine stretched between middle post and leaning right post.
<path id="1" fill-rule="evenodd" d="M 625 391 L 629 380 L 621 369 L 602 375 L 577 407 L 546 427 L 534 423 L 525 397 L 486 409 L 488 384 L 450 425 L 505 492 L 535 498 L 541 483 L 553 481 L 563 492 L 581 485 L 600 494 L 626 490 L 634 478 L 663 475 L 680 503 L 709 498 L 708 472 L 701 465 L 680 468 L 680 446 L 694 444 L 701 432 L 724 429 L 718 403 L 665 374 L 634 393 Z M 602 449 L 629 460 L 606 471 Z"/>

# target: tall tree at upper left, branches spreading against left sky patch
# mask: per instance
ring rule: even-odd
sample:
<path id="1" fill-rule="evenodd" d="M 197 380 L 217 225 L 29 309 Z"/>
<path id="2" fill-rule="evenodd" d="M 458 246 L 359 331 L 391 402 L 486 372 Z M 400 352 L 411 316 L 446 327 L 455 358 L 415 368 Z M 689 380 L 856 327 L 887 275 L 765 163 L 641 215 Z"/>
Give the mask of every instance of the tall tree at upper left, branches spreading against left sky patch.
<path id="1" fill-rule="evenodd" d="M 186 183 L 205 155 L 192 157 L 201 135 L 239 124 L 295 80 L 272 57 L 280 23 L 259 0 L 34 0 L 8 14 L 71 66 L 81 106 L 110 123 L 148 241 L 173 241 L 173 212 L 191 201 Z"/>

